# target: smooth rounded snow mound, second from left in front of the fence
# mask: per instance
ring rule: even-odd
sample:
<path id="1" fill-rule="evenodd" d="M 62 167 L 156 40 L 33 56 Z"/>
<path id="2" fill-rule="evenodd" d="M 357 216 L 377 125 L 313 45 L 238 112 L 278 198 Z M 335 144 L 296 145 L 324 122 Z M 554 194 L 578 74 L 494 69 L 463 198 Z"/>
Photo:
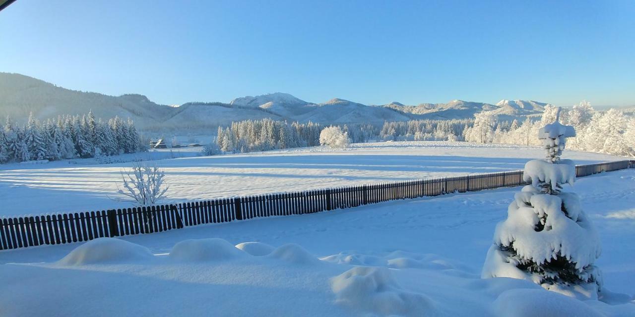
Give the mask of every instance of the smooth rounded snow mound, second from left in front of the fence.
<path id="1" fill-rule="evenodd" d="M 242 250 L 219 238 L 185 240 L 174 245 L 170 252 L 170 259 L 187 262 L 223 261 L 245 256 Z"/>

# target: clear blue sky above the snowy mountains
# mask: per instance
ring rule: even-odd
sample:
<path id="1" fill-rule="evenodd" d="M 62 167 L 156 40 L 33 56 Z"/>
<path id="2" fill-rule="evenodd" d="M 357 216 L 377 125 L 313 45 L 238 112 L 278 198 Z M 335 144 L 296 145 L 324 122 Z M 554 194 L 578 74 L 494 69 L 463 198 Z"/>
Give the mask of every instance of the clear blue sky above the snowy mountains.
<path id="1" fill-rule="evenodd" d="M 152 101 L 635 105 L 635 1 L 41 1 L 0 71 Z"/>

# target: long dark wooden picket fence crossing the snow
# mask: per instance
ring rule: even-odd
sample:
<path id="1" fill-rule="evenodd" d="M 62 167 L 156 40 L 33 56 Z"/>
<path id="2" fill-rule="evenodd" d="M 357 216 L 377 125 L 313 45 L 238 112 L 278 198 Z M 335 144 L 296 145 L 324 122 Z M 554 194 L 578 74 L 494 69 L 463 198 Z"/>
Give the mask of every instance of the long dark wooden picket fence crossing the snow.
<path id="1" fill-rule="evenodd" d="M 576 176 L 635 168 L 635 160 L 578 165 Z M 445 178 L 366 184 L 323 190 L 218 198 L 199 202 L 4 218 L 0 250 L 83 242 L 104 236 L 138 235 L 207 223 L 254 217 L 311 214 L 387 200 L 437 196 L 520 186 L 523 171 L 495 172 Z"/>

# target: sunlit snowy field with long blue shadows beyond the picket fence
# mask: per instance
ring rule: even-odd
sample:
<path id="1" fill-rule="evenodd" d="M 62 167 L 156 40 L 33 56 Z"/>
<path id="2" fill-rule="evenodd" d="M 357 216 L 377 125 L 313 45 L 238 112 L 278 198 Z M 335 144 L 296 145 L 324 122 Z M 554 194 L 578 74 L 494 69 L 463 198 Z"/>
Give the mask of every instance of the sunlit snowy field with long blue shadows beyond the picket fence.
<path id="1" fill-rule="evenodd" d="M 170 186 L 166 202 L 236 195 L 308 190 L 457 174 L 522 169 L 544 150 L 518 145 L 448 142 L 383 142 L 352 145 L 347 150 L 320 146 L 262 153 L 195 157 L 201 148 L 161 150 L 48 164 L 0 165 L 0 215 L 43 214 L 131 207 L 116 202 L 121 169 L 131 160 L 155 160 L 165 168 Z M 577 164 L 624 158 L 567 151 Z M 171 159 L 179 157 L 178 159 Z"/>

